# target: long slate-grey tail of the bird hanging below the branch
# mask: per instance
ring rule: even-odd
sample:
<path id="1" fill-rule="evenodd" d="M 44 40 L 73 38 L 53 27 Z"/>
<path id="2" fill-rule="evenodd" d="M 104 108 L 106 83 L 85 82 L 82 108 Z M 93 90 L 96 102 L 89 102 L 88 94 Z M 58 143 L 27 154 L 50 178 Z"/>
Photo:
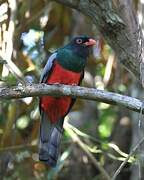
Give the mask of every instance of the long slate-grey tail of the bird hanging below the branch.
<path id="1" fill-rule="evenodd" d="M 63 119 L 52 124 L 46 113 L 41 112 L 39 160 L 51 167 L 56 166 L 63 134 Z"/>

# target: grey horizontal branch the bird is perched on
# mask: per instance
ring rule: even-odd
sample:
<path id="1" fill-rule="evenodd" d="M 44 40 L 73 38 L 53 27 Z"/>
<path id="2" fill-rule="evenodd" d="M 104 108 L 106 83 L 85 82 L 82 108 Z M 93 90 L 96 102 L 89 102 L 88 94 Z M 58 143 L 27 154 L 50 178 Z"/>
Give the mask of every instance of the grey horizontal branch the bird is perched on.
<path id="1" fill-rule="evenodd" d="M 43 95 L 55 97 L 71 96 L 73 98 L 100 101 L 112 105 L 125 106 L 136 112 L 140 112 L 143 105 L 142 101 L 133 97 L 80 86 L 31 84 L 27 86 L 0 88 L 0 100 Z"/>

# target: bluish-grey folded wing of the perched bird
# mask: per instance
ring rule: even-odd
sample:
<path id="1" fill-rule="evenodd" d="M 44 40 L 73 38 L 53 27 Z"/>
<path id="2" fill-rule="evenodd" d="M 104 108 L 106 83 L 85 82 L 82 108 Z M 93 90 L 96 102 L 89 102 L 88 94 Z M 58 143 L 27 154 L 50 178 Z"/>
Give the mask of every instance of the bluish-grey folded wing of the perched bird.
<path id="1" fill-rule="evenodd" d="M 45 83 L 47 81 L 48 76 L 50 75 L 51 69 L 53 67 L 54 60 L 56 59 L 57 52 L 53 53 L 43 69 L 42 75 L 40 77 L 40 83 Z"/>

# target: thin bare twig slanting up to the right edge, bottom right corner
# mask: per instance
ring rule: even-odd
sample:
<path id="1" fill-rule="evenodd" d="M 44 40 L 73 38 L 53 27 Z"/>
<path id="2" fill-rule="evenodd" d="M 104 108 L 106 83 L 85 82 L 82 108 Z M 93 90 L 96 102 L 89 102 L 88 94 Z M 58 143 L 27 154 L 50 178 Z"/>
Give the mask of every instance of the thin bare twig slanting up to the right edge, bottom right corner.
<path id="1" fill-rule="evenodd" d="M 112 180 L 115 180 L 117 178 L 117 176 L 119 175 L 119 173 L 121 172 L 121 170 L 123 169 L 123 167 L 125 166 L 125 164 L 128 162 L 129 158 L 137 151 L 137 149 L 139 148 L 139 146 L 144 142 L 144 137 L 136 144 L 136 146 L 131 150 L 130 154 L 127 156 L 127 158 L 121 163 L 121 165 L 119 166 L 119 168 L 116 170 L 116 172 L 114 173 L 114 176 L 112 177 Z"/>

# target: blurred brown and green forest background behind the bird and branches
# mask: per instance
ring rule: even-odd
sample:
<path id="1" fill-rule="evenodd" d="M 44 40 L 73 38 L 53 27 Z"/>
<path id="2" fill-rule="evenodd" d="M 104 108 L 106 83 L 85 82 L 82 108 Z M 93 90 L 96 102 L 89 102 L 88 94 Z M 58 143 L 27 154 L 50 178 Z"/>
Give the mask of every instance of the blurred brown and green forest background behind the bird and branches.
<path id="1" fill-rule="evenodd" d="M 133 2 L 142 23 L 143 4 Z M 91 20 L 46 0 L 0 0 L 0 87 L 38 83 L 49 55 L 82 34 L 97 40 L 82 86 L 141 96 Z M 137 141 L 138 118 L 120 106 L 77 100 L 65 120 L 58 165 L 51 169 L 38 161 L 38 98 L 1 100 L 0 179 L 102 180 L 97 162 L 114 173 Z M 118 179 L 137 175 L 137 159 L 130 158 Z"/>

